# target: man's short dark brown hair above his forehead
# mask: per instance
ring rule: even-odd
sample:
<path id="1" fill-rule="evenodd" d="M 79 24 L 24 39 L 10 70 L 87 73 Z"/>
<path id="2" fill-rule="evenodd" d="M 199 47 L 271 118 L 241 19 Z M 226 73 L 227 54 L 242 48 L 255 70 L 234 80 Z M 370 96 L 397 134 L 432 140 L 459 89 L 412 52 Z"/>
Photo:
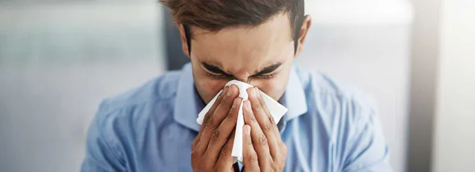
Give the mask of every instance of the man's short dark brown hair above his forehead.
<path id="1" fill-rule="evenodd" d="M 237 26 L 257 26 L 276 14 L 288 14 L 295 49 L 304 20 L 304 0 L 160 0 L 184 25 L 191 50 L 191 28 L 210 32 Z"/>

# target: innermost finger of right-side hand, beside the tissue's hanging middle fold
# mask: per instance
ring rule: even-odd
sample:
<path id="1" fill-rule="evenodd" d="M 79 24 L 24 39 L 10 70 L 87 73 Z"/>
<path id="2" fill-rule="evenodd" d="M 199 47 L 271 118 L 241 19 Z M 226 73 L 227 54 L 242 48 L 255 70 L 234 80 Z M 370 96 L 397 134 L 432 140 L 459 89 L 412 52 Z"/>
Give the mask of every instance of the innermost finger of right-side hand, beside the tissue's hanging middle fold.
<path id="1" fill-rule="evenodd" d="M 244 101 L 243 114 L 245 124 L 251 126 L 251 138 L 253 140 L 254 150 L 257 153 L 260 168 L 267 169 L 273 159 L 269 151 L 267 137 L 264 132 L 262 132 L 259 123 L 257 123 L 254 117 L 249 100 Z"/>

